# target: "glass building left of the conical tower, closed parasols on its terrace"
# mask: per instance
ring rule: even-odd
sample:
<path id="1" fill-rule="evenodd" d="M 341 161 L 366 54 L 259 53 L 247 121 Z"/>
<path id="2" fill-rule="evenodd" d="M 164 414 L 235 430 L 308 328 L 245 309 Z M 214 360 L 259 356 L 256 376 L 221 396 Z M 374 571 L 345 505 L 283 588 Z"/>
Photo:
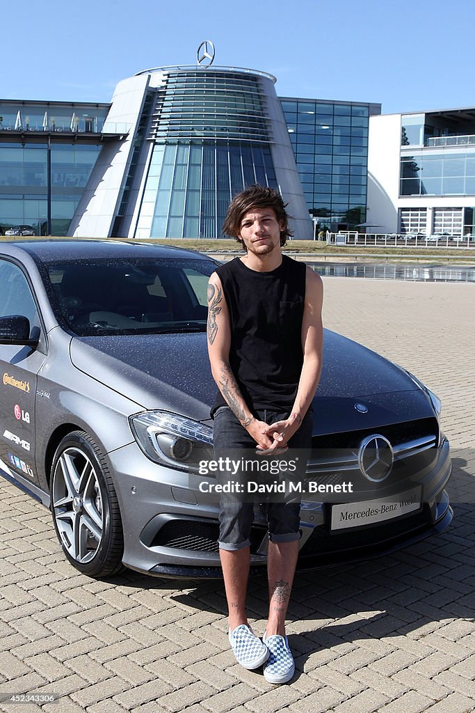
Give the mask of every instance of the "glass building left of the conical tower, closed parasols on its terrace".
<path id="1" fill-rule="evenodd" d="M 0 231 L 66 235 L 100 152 L 109 104 L 0 101 Z"/>

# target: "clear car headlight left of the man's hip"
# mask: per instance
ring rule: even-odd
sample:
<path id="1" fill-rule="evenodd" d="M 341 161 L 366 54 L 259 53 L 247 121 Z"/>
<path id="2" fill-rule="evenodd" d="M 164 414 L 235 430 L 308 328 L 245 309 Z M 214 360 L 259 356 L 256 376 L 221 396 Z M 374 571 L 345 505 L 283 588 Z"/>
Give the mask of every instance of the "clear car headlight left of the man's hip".
<path id="1" fill-rule="evenodd" d="M 130 416 L 130 427 L 147 458 L 178 471 L 198 473 L 213 457 L 213 429 L 167 411 Z"/>

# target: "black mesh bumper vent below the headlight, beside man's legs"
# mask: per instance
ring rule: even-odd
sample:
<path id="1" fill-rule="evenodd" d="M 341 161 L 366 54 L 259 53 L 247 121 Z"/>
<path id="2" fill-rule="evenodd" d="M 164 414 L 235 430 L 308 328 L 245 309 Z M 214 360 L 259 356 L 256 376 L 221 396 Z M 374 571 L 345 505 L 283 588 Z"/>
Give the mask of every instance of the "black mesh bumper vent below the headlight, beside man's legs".
<path id="1" fill-rule="evenodd" d="M 266 528 L 251 528 L 251 553 L 255 553 L 266 535 Z M 196 552 L 218 552 L 219 524 L 207 520 L 168 520 L 158 530 L 152 547 L 172 547 Z"/>

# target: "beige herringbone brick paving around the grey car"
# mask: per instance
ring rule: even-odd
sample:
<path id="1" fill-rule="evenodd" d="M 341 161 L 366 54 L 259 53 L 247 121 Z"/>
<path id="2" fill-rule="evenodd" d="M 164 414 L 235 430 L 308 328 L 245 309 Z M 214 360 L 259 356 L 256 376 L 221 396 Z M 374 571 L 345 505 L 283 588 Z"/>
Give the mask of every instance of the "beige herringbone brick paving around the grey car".
<path id="1" fill-rule="evenodd" d="M 469 492 L 475 287 L 328 278 L 325 324 L 439 394 L 454 493 Z M 455 510 L 446 533 L 395 555 L 299 574 L 288 612 L 297 675 L 273 687 L 234 662 L 220 583 L 178 588 L 134 573 L 90 580 L 61 556 L 49 514 L 2 481 L 0 697 L 54 693 L 42 706 L 51 713 L 472 712 L 473 502 Z M 265 591 L 261 578 L 251 581 L 258 632 Z M 0 709 L 39 708 L 4 701 Z"/>

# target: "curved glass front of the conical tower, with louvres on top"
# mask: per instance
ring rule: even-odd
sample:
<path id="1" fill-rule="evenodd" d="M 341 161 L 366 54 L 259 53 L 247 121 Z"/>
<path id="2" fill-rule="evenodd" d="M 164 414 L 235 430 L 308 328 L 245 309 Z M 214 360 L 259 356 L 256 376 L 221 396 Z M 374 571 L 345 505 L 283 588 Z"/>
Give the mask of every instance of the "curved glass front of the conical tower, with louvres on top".
<path id="1" fill-rule="evenodd" d="M 277 186 L 259 74 L 167 71 L 148 138 L 139 235 L 219 237 L 236 193 L 253 183 Z"/>

